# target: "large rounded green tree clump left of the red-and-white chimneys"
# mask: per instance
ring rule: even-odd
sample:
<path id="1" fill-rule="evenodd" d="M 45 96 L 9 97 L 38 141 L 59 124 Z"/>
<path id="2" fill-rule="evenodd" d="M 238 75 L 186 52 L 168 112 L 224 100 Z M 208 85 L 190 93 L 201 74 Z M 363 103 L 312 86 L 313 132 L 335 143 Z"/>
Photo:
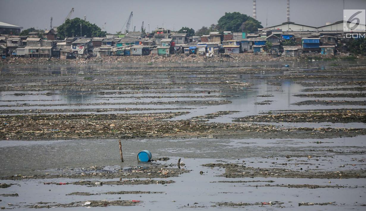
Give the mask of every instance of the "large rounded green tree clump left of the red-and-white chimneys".
<path id="1" fill-rule="evenodd" d="M 254 18 L 241 14 L 240 12 L 225 12 L 219 21 L 217 21 L 217 28 L 222 31 L 253 33 L 258 28 L 263 28 L 261 22 Z"/>

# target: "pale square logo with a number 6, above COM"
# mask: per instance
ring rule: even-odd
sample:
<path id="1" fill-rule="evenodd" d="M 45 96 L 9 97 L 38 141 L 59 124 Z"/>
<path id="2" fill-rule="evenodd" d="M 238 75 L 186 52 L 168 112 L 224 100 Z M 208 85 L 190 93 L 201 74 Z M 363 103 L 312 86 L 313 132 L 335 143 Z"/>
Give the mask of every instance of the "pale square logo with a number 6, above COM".
<path id="1" fill-rule="evenodd" d="M 365 10 L 343 10 L 343 31 L 365 31 Z"/>

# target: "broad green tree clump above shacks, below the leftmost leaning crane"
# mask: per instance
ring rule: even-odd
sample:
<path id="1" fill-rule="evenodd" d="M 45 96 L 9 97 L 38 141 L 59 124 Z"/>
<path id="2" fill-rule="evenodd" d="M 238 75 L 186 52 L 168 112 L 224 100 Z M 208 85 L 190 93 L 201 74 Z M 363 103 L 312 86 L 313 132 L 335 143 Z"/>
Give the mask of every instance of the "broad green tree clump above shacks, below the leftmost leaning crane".
<path id="1" fill-rule="evenodd" d="M 81 25 L 81 31 L 80 31 Z M 89 21 L 74 18 L 67 19 L 62 25 L 57 27 L 57 35 L 64 39 L 65 37 L 72 36 L 86 36 L 86 37 L 104 37 L 107 33 L 106 31 L 102 31 L 100 27 L 95 24 L 90 23 Z M 82 33 L 82 34 L 81 34 Z"/>

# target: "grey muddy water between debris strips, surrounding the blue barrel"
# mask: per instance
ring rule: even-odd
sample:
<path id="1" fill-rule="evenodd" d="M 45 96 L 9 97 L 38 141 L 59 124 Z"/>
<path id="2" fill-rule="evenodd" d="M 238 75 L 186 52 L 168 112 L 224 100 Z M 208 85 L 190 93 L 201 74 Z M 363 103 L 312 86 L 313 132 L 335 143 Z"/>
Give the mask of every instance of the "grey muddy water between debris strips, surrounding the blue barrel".
<path id="1" fill-rule="evenodd" d="M 1 67 L 1 115 L 46 114 L 107 114 L 107 113 L 162 113 L 189 112 L 169 120 L 197 120 L 222 111 L 237 111 L 225 115 L 199 117 L 208 123 L 230 123 L 235 118 L 261 113 L 302 111 L 317 109 L 365 109 L 359 105 L 293 105 L 307 100 L 366 101 L 363 97 L 296 97 L 309 94 L 305 88 L 359 87 L 349 83 L 364 81 L 365 63 L 318 62 L 291 63 L 284 68 L 281 63 L 223 64 L 223 67 L 208 67 L 213 64 L 131 64 L 131 65 L 85 65 L 85 66 L 8 66 Z M 335 68 L 336 66 L 336 68 Z M 175 69 L 176 68 L 176 69 Z M 351 69 L 350 69 L 351 68 Z M 356 69 L 352 69 L 356 68 Z M 334 71 L 334 72 L 332 72 Z M 303 78 L 299 78 L 299 77 Z M 315 78 L 314 78 L 315 77 Z M 301 83 L 299 83 L 301 82 Z M 335 83 L 343 85 L 303 86 L 305 82 Z M 250 85 L 243 85 L 247 83 Z M 314 83 L 315 84 L 315 83 Z M 361 85 L 362 86 L 362 85 Z M 363 85 L 364 86 L 364 85 Z M 315 91 L 322 93 L 363 93 L 361 91 Z M 23 95 L 24 94 L 24 95 Z M 213 96 L 213 97 L 211 97 Z M 221 97 L 222 96 L 222 97 Z M 210 105 L 220 100 L 231 101 L 222 105 Z M 258 105 L 257 103 L 269 103 Z M 99 104 L 100 103 L 100 104 Z M 143 103 L 143 104 L 141 104 Z M 89 110 L 88 110 L 89 109 Z M 94 109 L 94 110 L 91 110 Z M 105 110 L 103 110 L 105 109 Z M 107 110 L 115 109 L 115 110 Z M 119 110 L 117 110 L 119 109 Z M 133 110 L 122 110 L 133 109 Z M 140 110 L 139 110 L 140 109 Z M 150 109 L 150 110 L 146 110 Z M 151 110 L 156 109 L 156 110 Z M 15 110 L 10 112 L 10 110 Z M 22 111 L 16 113 L 16 110 Z M 99 110 L 96 112 L 96 110 Z M 8 111 L 8 112 L 7 112 Z M 6 122 L 1 123 L 6 127 Z M 263 123 L 269 124 L 269 123 Z M 271 125 L 300 128 L 366 128 L 362 122 L 328 123 L 270 123 Z M 235 131 L 230 131 L 235 133 Z M 366 136 L 294 139 L 260 139 L 238 137 L 215 138 L 135 138 L 123 139 L 125 162 L 120 162 L 118 139 L 42 139 L 1 140 L 0 176 L 45 175 L 81 169 L 90 166 L 107 166 L 105 169 L 157 164 L 176 165 L 179 158 L 185 163 L 182 168 L 192 170 L 178 177 L 138 178 L 139 180 L 173 180 L 171 184 L 141 185 L 45 185 L 48 182 L 119 181 L 120 178 L 44 178 L 0 180 L 0 183 L 15 184 L 1 188 L 0 194 L 18 193 L 19 196 L 1 196 L 0 207 L 16 210 L 31 210 L 29 205 L 43 202 L 67 204 L 90 200 L 140 200 L 127 210 L 232 210 L 234 207 L 247 210 L 364 210 L 366 204 L 366 179 L 364 177 L 299 178 L 302 172 L 363 171 L 366 164 Z M 148 149 L 154 158 L 169 157 L 168 161 L 138 163 L 140 150 Z M 235 163 L 255 168 L 280 168 L 296 171 L 290 178 L 259 177 L 250 175 L 222 177 L 224 168 L 204 167 L 207 163 Z M 202 174 L 200 172 L 202 171 Z M 122 178 L 125 180 L 126 178 Z M 134 178 L 132 178 L 134 179 Z M 223 182 L 224 181 L 224 182 Z M 238 182 L 231 182 L 238 181 Z M 319 185 L 321 188 L 304 188 L 296 185 Z M 294 185 L 291 188 L 285 185 Z M 339 186 L 340 188 L 338 188 Z M 110 191 L 163 192 L 149 194 L 115 194 Z M 67 195 L 86 192 L 97 195 Z M 268 204 L 269 201 L 273 205 Z M 277 203 L 275 203 L 277 201 Z M 224 203 L 227 204 L 224 204 Z M 266 203 L 264 203 L 266 202 Z M 299 206 L 304 202 L 307 206 Z M 331 204 L 329 204 L 331 202 Z M 10 204 L 9 204 L 10 203 Z M 195 204 L 197 203 L 197 204 Z M 242 206 L 240 203 L 248 203 Z M 259 204 L 258 204 L 259 203 Z M 263 203 L 263 204 L 262 204 Z M 320 203 L 327 205 L 313 205 Z M 234 207 L 232 205 L 235 205 Z M 93 207 L 95 210 L 116 210 L 121 207 Z M 78 208 L 58 208 L 73 209 Z"/>

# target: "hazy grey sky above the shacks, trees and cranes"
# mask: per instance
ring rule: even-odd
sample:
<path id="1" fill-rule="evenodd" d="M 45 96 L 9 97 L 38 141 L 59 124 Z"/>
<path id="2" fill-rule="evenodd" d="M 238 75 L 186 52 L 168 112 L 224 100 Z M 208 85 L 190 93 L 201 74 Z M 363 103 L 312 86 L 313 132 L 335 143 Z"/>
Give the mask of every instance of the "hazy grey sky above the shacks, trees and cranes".
<path id="1" fill-rule="evenodd" d="M 252 16 L 252 0 L 0 0 L 0 21 L 27 29 L 49 29 L 60 25 L 71 8 L 71 18 L 83 18 L 99 27 L 107 22 L 108 33 L 120 31 L 130 12 L 132 25 L 140 30 L 142 21 L 146 31 L 158 27 L 194 30 L 217 23 L 225 12 L 241 12 Z M 257 0 L 257 19 L 262 25 L 277 25 L 286 21 L 286 0 Z M 366 0 L 345 0 L 345 9 L 366 9 Z M 290 0 L 292 22 L 323 26 L 326 22 L 342 20 L 343 0 Z M 131 25 L 131 26 L 132 26 Z M 130 31 L 133 27 L 130 28 Z M 123 30 L 122 30 L 123 31 Z"/>

